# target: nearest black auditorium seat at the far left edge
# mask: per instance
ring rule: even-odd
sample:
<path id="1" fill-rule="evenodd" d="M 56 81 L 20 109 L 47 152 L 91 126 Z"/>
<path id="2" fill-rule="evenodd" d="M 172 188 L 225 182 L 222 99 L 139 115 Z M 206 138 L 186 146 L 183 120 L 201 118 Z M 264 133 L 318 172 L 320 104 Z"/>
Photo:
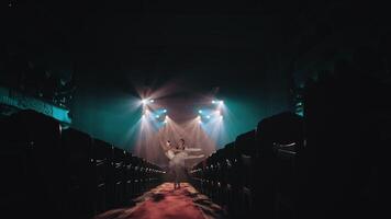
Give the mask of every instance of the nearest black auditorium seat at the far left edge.
<path id="1" fill-rule="evenodd" d="M 66 189 L 59 123 L 29 110 L 11 115 L 3 125 L 3 207 L 22 217 L 58 215 L 62 218 Z"/>

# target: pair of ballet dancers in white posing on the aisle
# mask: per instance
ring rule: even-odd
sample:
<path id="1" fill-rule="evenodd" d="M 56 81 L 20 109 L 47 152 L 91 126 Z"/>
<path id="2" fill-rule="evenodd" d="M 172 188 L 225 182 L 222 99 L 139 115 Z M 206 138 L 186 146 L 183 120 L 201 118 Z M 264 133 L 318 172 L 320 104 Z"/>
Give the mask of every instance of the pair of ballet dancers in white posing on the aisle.
<path id="1" fill-rule="evenodd" d="M 166 146 L 163 146 L 165 154 L 169 159 L 168 168 L 174 175 L 174 188 L 180 188 L 180 182 L 186 177 L 186 165 L 185 161 L 189 159 L 203 158 L 200 155 L 190 155 L 189 152 L 201 151 L 199 148 L 187 148 L 185 146 L 185 139 L 180 139 L 180 145 L 174 147 L 171 141 L 167 140 Z"/>

